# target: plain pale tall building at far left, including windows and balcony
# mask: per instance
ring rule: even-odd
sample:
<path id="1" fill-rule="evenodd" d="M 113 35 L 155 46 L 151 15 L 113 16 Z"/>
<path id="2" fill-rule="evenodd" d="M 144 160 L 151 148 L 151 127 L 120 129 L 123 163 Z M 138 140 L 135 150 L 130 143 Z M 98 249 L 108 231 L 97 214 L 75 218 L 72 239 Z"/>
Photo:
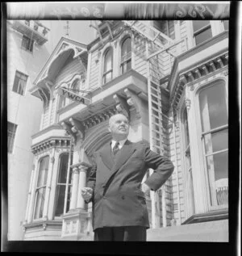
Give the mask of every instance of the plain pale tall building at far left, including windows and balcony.
<path id="1" fill-rule="evenodd" d="M 22 240 L 31 169 L 31 135 L 40 130 L 43 104 L 28 90 L 48 59 L 48 27 L 37 20 L 6 22 L 8 239 Z M 31 120 L 31 122 L 29 122 Z"/>

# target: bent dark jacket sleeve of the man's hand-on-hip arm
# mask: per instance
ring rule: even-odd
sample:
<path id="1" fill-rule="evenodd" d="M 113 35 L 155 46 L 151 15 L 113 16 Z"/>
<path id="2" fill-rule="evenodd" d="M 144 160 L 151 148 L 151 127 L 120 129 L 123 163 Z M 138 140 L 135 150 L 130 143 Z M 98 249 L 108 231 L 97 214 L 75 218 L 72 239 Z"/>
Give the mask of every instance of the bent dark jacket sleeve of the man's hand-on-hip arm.
<path id="1" fill-rule="evenodd" d="M 149 149 L 148 145 L 144 145 L 144 162 L 148 168 L 153 169 L 151 176 L 144 182 L 152 191 L 159 189 L 173 173 L 174 166 L 167 157 L 163 157 L 158 153 Z"/>

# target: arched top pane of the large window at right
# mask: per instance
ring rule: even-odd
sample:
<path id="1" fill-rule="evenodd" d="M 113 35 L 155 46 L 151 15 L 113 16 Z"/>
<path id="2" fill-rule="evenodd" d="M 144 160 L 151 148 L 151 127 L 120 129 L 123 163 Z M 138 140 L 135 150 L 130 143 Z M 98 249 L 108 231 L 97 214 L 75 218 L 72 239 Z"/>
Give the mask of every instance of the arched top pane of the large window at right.
<path id="1" fill-rule="evenodd" d="M 202 132 L 227 124 L 227 103 L 223 82 L 217 82 L 214 86 L 202 90 L 199 94 L 199 102 Z"/>

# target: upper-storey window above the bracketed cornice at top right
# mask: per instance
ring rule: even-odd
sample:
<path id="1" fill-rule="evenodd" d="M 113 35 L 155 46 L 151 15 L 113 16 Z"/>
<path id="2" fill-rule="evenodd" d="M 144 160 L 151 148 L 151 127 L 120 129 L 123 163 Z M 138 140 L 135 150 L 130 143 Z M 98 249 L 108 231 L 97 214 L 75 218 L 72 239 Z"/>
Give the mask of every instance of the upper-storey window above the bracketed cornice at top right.
<path id="1" fill-rule="evenodd" d="M 196 45 L 201 44 L 212 37 L 211 23 L 209 20 L 193 20 L 192 23 Z"/>

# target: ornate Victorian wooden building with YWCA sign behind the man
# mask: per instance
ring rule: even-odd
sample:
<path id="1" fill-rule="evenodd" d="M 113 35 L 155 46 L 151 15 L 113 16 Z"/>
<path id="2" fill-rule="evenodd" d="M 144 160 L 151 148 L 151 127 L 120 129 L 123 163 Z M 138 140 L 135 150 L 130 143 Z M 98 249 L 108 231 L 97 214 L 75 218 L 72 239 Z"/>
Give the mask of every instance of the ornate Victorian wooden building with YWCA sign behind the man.
<path id="1" fill-rule="evenodd" d="M 150 231 L 223 222 L 226 240 L 227 21 L 104 20 L 91 27 L 97 38 L 88 45 L 61 38 L 31 88 L 44 111 L 32 136 L 24 239 L 92 239 L 92 206 L 81 187 L 94 152 L 111 139 L 108 119 L 123 112 L 128 139 L 146 141 L 175 166 L 147 196 Z"/>

